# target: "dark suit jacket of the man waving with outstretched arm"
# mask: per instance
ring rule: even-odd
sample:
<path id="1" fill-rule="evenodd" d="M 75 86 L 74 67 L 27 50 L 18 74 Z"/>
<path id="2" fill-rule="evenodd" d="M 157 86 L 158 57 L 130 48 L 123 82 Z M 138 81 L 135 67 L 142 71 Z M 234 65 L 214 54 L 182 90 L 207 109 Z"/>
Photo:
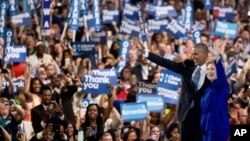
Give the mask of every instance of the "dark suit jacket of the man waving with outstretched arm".
<path id="1" fill-rule="evenodd" d="M 153 53 L 149 53 L 148 59 L 162 67 L 165 67 L 171 71 L 174 71 L 182 75 L 182 93 L 180 95 L 178 111 L 177 111 L 178 120 L 183 122 L 186 119 L 186 116 L 188 114 L 193 99 L 194 99 L 194 109 L 197 112 L 197 117 L 199 117 L 200 99 L 207 83 L 209 83 L 209 80 L 205 79 L 205 82 L 202 85 L 202 87 L 197 92 L 195 92 L 194 84 L 192 82 L 192 74 L 196 67 L 194 61 L 185 60 L 182 63 L 175 63 L 171 60 L 164 59 Z"/>

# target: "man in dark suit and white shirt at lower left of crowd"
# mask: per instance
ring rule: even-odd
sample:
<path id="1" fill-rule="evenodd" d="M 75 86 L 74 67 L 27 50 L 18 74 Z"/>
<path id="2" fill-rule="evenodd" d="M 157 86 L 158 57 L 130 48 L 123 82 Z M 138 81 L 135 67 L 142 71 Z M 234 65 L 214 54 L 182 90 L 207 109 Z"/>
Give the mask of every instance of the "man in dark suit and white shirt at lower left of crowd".
<path id="1" fill-rule="evenodd" d="M 42 87 L 42 103 L 31 110 L 32 127 L 35 134 L 43 131 L 48 124 L 66 125 L 64 114 L 59 105 L 51 101 L 52 91 L 49 86 Z"/>

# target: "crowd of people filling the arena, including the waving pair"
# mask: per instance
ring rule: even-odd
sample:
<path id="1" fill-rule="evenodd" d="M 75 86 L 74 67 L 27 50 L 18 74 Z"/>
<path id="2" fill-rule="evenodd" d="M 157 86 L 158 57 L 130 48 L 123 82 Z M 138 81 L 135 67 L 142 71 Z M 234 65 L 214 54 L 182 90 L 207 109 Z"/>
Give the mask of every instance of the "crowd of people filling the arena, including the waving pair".
<path id="1" fill-rule="evenodd" d="M 41 1 L 34 2 L 37 11 L 41 10 Z M 92 2 L 89 0 L 89 5 Z M 99 2 L 100 10 L 123 11 L 121 0 Z M 6 26 L 14 31 L 14 44 L 26 46 L 27 59 L 8 63 L 6 40 L 0 38 L 0 140 L 228 140 L 230 125 L 250 124 L 250 2 L 214 0 L 214 6 L 234 8 L 230 22 L 238 24 L 235 39 L 214 36 L 214 13 L 204 10 L 202 0 L 191 2 L 195 22 L 203 27 L 201 43 L 194 43 L 190 31 L 186 39 L 162 32 L 148 33 L 145 47 L 139 37 L 122 35 L 121 23 L 112 22 L 102 24 L 107 42 L 96 43 L 95 55 L 75 56 L 73 47 L 73 42 L 91 39 L 93 29 L 79 27 L 74 34 L 66 28 L 62 37 L 69 12 L 67 0 L 51 1 L 47 37 L 35 22 L 41 18 L 39 12 L 30 26 L 17 27 L 6 19 Z M 185 1 L 163 3 L 181 14 Z M 125 59 L 119 54 L 122 39 L 130 41 L 130 49 L 118 85 L 109 85 L 107 94 L 84 93 L 84 75 L 95 69 L 116 68 Z M 236 71 L 227 75 L 233 70 L 232 61 L 236 61 Z M 179 104 L 165 103 L 162 112 L 150 112 L 146 120 L 123 121 L 120 103 L 136 102 L 137 82 L 157 84 L 163 69 L 182 75 Z M 25 81 L 23 87 L 16 88 L 17 79 Z M 83 99 L 91 101 L 86 109 L 82 108 Z"/>

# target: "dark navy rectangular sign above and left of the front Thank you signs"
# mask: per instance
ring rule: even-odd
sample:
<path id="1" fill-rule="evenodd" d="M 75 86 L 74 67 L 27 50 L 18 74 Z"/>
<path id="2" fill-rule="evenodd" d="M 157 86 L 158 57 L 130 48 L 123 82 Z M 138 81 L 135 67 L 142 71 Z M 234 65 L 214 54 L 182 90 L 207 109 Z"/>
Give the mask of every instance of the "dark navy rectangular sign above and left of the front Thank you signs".
<path id="1" fill-rule="evenodd" d="M 74 56 L 95 54 L 94 42 L 75 42 L 73 48 L 75 48 Z"/>

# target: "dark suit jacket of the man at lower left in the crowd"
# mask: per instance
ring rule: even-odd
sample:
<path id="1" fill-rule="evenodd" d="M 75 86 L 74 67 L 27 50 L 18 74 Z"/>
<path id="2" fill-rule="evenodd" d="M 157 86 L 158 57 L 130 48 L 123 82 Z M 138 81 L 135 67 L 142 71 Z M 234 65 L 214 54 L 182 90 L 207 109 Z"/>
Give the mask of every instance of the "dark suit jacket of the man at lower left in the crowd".
<path id="1" fill-rule="evenodd" d="M 45 114 L 45 109 L 43 107 L 42 104 L 34 107 L 32 110 L 31 110 L 31 122 L 32 122 L 32 127 L 34 129 L 34 132 L 37 134 L 39 132 L 41 132 L 42 130 L 44 130 L 44 128 L 41 126 L 41 121 L 43 119 L 43 116 Z M 49 120 L 48 120 L 48 123 L 52 123 L 52 124 L 60 124 L 60 125 L 63 125 L 65 126 L 66 125 L 66 120 L 61 120 L 59 118 L 59 113 L 53 113 L 51 114 Z"/>

